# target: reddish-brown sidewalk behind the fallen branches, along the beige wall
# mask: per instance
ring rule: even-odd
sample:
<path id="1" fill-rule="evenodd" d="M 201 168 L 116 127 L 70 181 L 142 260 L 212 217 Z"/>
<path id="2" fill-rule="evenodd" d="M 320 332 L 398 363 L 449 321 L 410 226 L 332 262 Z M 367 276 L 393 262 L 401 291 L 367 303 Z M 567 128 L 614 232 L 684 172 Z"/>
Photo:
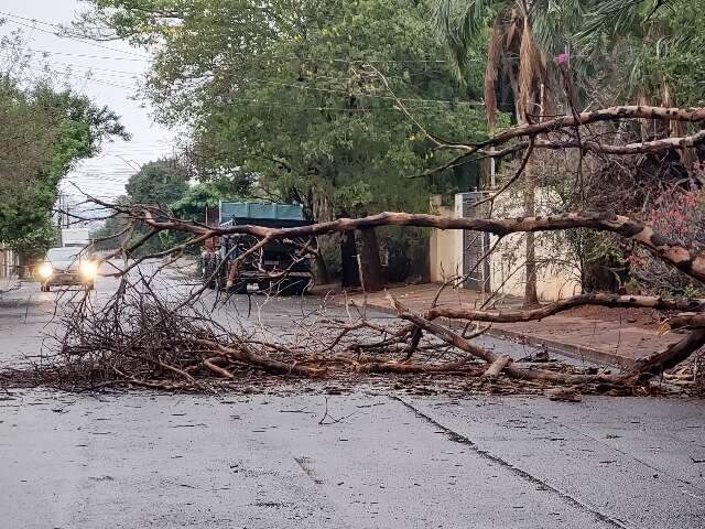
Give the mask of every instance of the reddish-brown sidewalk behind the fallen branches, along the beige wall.
<path id="1" fill-rule="evenodd" d="M 330 285 L 315 289 L 317 294 L 330 293 Z M 425 312 L 438 291 L 434 283 L 414 285 L 389 285 L 388 291 L 416 313 Z M 386 298 L 387 292 L 335 293 L 330 299 L 344 304 L 346 299 L 358 306 L 367 303 L 376 310 L 394 313 Z M 445 289 L 441 294 L 440 306 L 480 306 L 481 293 L 467 289 Z M 519 298 L 503 299 L 497 309 L 519 309 Z M 610 319 L 599 315 L 584 316 L 567 311 L 541 321 L 525 323 L 496 323 L 487 334 L 508 337 L 530 345 L 542 345 L 550 350 L 590 361 L 629 367 L 634 360 L 663 350 L 677 342 L 677 334 L 659 336 L 657 322 L 637 323 L 622 313 L 622 309 L 610 312 Z M 631 323 L 630 323 L 631 322 Z M 462 322 L 446 322 L 454 328 L 462 328 Z"/>

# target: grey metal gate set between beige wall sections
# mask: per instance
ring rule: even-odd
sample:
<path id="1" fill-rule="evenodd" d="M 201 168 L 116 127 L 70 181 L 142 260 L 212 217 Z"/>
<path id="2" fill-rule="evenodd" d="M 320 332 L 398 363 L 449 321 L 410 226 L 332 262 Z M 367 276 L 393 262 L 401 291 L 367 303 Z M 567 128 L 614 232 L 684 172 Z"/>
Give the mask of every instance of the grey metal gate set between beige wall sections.
<path id="1" fill-rule="evenodd" d="M 464 218 L 484 218 L 489 212 L 489 203 L 475 204 L 487 196 L 487 192 L 459 193 L 460 214 Z M 478 261 L 489 250 L 489 234 L 463 230 L 463 288 L 489 292 L 489 260 Z"/>

